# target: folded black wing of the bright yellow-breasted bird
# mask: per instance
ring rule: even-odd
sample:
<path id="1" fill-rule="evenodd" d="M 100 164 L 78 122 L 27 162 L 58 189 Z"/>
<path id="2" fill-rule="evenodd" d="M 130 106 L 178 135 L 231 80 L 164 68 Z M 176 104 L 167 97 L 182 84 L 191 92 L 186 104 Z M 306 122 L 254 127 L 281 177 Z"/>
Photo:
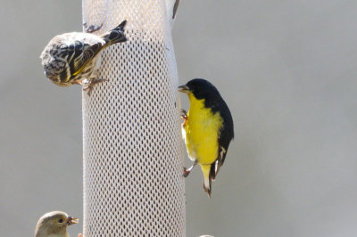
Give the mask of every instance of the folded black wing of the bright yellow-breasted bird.
<path id="1" fill-rule="evenodd" d="M 226 159 L 229 143 L 234 138 L 232 115 L 230 114 L 230 110 L 228 109 L 226 102 L 223 100 L 222 103 L 220 103 L 220 116 L 223 119 L 223 125 L 220 128 L 220 134 L 218 136 L 218 159 L 212 163 L 211 168 L 211 176 L 213 180 L 220 171 L 220 167 L 223 165 L 224 160 Z"/>

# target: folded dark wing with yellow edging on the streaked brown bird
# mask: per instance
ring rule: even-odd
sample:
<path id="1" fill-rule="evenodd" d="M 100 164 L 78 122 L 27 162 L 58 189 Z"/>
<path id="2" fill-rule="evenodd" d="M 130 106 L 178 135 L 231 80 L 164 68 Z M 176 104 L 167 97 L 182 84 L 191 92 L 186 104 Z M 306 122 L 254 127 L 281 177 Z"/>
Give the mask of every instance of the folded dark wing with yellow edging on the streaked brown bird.
<path id="1" fill-rule="evenodd" d="M 70 65 L 71 76 L 78 75 L 86 68 L 88 62 L 98 54 L 103 47 L 102 43 L 89 45 L 76 40 L 72 45 L 69 45 L 68 63 Z"/>

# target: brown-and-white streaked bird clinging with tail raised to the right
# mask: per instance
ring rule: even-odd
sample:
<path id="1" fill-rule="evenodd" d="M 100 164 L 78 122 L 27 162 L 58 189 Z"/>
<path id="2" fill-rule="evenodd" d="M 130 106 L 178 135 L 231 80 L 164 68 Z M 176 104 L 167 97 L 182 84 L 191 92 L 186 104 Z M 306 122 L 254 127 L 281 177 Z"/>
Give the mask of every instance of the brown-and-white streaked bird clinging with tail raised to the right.
<path id="1" fill-rule="evenodd" d="M 126 42 L 124 27 L 127 20 L 102 36 L 72 32 L 54 37 L 41 53 L 46 77 L 58 86 L 95 83 L 100 66 L 100 52 L 107 46 Z M 87 80 L 84 80 L 87 79 Z"/>

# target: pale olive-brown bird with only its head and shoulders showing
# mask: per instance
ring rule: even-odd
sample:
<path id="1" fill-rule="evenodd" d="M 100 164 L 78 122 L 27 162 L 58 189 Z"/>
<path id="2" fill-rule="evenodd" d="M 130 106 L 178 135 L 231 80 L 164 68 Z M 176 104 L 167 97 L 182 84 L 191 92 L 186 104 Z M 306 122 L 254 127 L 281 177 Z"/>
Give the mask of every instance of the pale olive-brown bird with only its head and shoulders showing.
<path id="1" fill-rule="evenodd" d="M 62 211 L 52 211 L 39 218 L 35 237 L 70 237 L 67 227 L 79 223 L 79 219 L 68 217 Z"/>

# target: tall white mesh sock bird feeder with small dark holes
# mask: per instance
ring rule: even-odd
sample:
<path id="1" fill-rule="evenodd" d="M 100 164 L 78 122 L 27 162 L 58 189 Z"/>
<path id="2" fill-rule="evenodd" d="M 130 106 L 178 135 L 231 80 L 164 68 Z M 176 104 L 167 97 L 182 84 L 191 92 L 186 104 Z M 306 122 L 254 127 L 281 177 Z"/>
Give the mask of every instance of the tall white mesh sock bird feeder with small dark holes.
<path id="1" fill-rule="evenodd" d="M 84 236 L 185 236 L 178 76 L 164 0 L 83 0 L 95 34 L 128 20 L 83 98 Z"/>

